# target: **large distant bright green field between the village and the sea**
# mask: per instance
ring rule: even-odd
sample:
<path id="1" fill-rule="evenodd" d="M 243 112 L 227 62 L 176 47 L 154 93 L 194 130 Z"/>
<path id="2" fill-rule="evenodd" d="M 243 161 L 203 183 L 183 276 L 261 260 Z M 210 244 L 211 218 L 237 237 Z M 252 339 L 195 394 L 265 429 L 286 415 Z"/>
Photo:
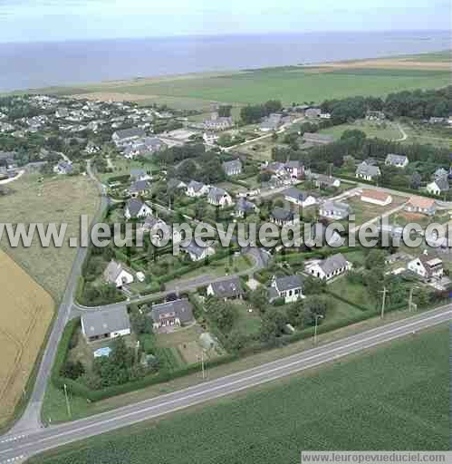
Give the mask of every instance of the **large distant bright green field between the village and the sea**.
<path id="1" fill-rule="evenodd" d="M 88 86 L 85 92 L 168 96 L 197 101 L 256 103 L 279 99 L 292 102 L 322 102 L 350 95 L 385 95 L 402 90 L 446 86 L 447 71 L 406 69 L 339 69 L 325 73 L 301 67 L 269 68 L 225 75 L 197 74 L 187 78 L 120 82 Z M 71 92 L 71 90 L 70 90 Z M 81 92 L 77 89 L 76 92 Z"/>

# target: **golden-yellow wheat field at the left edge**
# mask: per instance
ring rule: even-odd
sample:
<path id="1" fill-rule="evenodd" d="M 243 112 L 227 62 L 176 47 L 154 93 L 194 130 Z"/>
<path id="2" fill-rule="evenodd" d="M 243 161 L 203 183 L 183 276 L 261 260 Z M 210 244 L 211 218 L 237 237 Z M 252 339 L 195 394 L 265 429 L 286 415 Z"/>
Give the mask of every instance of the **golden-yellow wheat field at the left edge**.
<path id="1" fill-rule="evenodd" d="M 0 251 L 0 427 L 24 393 L 53 317 L 53 299 Z"/>

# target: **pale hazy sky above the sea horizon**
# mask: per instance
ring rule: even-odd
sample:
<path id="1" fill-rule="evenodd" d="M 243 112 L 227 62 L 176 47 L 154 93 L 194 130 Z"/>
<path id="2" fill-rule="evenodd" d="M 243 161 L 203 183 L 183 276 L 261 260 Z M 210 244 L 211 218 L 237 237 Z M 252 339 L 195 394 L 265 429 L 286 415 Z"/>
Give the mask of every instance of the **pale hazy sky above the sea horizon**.
<path id="1" fill-rule="evenodd" d="M 0 42 L 448 30 L 449 0 L 0 0 Z"/>

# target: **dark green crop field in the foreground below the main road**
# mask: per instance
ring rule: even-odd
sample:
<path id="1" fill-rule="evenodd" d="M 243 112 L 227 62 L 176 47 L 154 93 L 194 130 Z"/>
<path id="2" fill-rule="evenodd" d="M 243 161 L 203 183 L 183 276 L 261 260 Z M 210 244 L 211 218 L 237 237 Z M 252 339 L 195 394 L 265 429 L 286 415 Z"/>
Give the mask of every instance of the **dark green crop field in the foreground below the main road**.
<path id="1" fill-rule="evenodd" d="M 301 449 L 448 449 L 448 325 L 34 464 L 296 462 Z"/>

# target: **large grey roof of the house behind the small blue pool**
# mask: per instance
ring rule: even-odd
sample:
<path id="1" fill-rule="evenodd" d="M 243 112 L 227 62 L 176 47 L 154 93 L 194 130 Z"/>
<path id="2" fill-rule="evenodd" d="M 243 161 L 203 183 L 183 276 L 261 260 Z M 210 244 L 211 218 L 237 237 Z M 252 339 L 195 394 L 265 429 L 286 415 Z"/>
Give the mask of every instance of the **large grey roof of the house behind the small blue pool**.
<path id="1" fill-rule="evenodd" d="M 127 306 L 121 305 L 111 309 L 102 309 L 82 315 L 84 333 L 88 337 L 104 333 L 119 332 L 130 329 L 130 318 Z"/>

